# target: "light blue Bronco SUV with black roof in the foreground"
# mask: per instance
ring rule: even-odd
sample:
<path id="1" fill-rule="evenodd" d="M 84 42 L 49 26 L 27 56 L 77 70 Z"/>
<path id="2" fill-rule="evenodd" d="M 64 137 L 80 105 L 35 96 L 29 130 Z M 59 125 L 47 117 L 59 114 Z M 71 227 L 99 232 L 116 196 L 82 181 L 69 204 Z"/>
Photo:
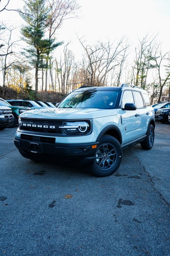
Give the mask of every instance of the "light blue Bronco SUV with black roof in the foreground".
<path id="1" fill-rule="evenodd" d="M 91 163 L 96 176 L 113 174 L 122 149 L 154 144 L 154 109 L 139 87 L 82 86 L 57 108 L 22 113 L 14 143 L 22 156 Z"/>

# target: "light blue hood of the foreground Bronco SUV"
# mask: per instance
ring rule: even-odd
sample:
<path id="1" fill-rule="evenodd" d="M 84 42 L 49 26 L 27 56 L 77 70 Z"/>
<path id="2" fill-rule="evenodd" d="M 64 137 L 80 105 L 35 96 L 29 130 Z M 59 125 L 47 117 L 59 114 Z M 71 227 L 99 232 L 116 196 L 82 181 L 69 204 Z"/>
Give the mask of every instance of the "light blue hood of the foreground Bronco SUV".
<path id="1" fill-rule="evenodd" d="M 117 109 L 98 108 L 45 108 L 20 114 L 20 117 L 39 119 L 91 119 L 117 114 Z"/>

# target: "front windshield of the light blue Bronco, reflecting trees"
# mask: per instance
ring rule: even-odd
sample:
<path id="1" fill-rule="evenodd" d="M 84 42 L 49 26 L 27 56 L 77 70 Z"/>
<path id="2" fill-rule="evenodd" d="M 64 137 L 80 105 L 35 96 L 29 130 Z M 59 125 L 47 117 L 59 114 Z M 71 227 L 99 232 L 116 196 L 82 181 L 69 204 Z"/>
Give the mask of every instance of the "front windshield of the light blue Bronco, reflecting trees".
<path id="1" fill-rule="evenodd" d="M 73 91 L 58 108 L 108 108 L 113 109 L 118 97 L 118 91 L 87 90 Z"/>

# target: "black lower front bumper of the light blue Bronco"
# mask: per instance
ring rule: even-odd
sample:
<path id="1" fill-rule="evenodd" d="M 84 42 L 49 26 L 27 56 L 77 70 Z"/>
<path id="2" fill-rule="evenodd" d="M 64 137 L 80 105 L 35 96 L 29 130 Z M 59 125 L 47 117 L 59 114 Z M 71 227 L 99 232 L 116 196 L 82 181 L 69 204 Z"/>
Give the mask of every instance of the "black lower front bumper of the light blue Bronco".
<path id="1" fill-rule="evenodd" d="M 14 137 L 14 144 L 19 149 L 22 156 L 26 158 L 38 157 L 55 160 L 65 161 L 79 161 L 84 159 L 85 162 L 91 162 L 94 160 L 96 154 L 96 148 L 92 148 L 93 145 L 98 145 L 99 142 L 93 143 L 76 143 L 76 144 L 63 144 L 63 143 L 42 143 L 33 142 L 29 140 L 23 140 L 18 137 Z M 31 147 L 34 147 L 35 149 Z M 40 148 L 37 152 L 36 145 Z M 30 147 L 31 146 L 31 147 Z"/>

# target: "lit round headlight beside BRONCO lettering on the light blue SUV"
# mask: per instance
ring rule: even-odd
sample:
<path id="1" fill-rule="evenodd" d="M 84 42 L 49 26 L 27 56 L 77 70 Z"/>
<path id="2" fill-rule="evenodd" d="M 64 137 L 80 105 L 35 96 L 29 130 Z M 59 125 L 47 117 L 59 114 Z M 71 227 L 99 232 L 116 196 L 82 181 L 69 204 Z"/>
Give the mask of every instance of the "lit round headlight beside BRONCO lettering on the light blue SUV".
<path id="1" fill-rule="evenodd" d="M 63 129 L 66 134 L 86 134 L 90 131 L 90 124 L 86 121 L 65 122 L 63 126 L 58 128 Z"/>

